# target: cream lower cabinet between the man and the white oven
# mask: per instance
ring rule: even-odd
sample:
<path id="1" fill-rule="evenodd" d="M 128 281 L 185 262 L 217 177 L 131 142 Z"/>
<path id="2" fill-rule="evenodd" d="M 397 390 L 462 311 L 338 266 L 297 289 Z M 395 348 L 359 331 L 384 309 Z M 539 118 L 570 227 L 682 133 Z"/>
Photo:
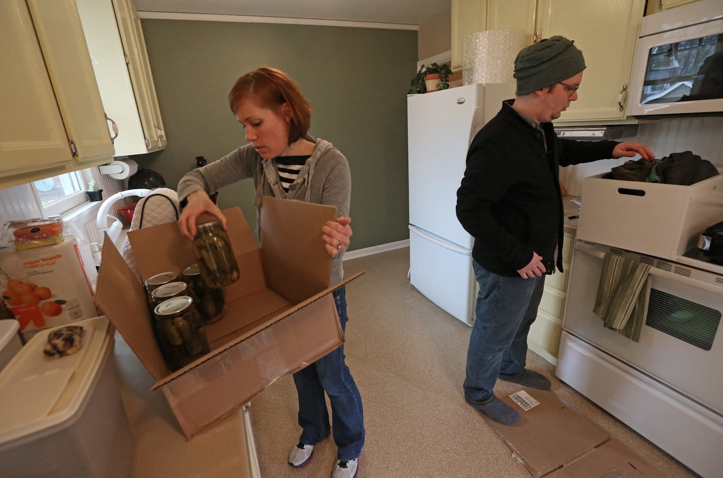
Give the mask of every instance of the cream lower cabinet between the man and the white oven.
<path id="1" fill-rule="evenodd" d="M 542 300 L 537 310 L 537 318 L 527 336 L 527 346 L 548 362 L 557 362 L 557 348 L 560 346 L 562 333 L 562 311 L 565 310 L 568 276 L 570 275 L 570 259 L 572 258 L 575 236 L 565 234 L 562 242 L 562 268 L 552 276 L 547 276 L 544 283 Z"/>

